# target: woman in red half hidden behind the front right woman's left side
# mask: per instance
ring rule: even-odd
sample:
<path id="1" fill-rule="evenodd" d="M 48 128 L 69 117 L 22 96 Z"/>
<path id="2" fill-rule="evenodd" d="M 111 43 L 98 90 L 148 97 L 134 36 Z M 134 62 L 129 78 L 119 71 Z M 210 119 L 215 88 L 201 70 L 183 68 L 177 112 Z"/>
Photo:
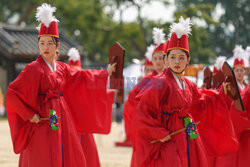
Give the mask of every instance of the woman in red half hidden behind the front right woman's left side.
<path id="1" fill-rule="evenodd" d="M 136 95 L 143 89 L 147 89 L 146 85 L 151 81 L 153 76 L 158 75 L 163 72 L 164 65 L 164 55 L 166 54 L 167 44 L 165 43 L 165 34 L 163 29 L 154 28 L 153 38 L 155 45 L 151 45 L 147 48 L 145 54 L 146 62 L 145 68 L 148 66 L 153 66 L 153 71 L 146 74 L 146 76 L 129 92 L 128 100 L 124 104 L 123 119 L 125 124 L 126 132 L 126 143 L 133 143 L 133 137 L 135 130 L 133 127 L 134 112 L 136 110 L 138 100 L 135 100 Z M 153 84 L 153 83 L 152 83 Z"/>

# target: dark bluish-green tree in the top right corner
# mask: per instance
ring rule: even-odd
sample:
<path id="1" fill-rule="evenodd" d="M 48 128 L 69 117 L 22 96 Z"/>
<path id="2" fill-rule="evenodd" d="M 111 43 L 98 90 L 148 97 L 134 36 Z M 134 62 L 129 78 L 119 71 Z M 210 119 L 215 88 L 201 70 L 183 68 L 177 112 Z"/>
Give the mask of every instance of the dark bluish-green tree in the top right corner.
<path id="1" fill-rule="evenodd" d="M 179 9 L 184 9 L 190 4 L 212 4 L 221 7 L 224 11 L 219 19 L 220 24 L 208 28 L 213 41 L 212 47 L 217 55 L 232 56 L 236 44 L 243 47 L 250 41 L 250 0 L 179 0 Z M 218 17 L 218 16 L 217 16 Z"/>

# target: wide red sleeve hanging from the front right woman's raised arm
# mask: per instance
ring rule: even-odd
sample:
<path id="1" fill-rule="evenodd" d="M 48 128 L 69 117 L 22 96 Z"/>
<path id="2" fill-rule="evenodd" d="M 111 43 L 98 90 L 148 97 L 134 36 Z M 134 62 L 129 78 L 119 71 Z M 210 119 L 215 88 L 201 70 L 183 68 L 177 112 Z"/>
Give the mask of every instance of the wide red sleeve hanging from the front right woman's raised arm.
<path id="1" fill-rule="evenodd" d="M 200 121 L 198 129 L 208 154 L 219 156 L 236 152 L 238 142 L 223 90 L 191 87 L 194 102 L 189 113 L 195 122 Z"/>

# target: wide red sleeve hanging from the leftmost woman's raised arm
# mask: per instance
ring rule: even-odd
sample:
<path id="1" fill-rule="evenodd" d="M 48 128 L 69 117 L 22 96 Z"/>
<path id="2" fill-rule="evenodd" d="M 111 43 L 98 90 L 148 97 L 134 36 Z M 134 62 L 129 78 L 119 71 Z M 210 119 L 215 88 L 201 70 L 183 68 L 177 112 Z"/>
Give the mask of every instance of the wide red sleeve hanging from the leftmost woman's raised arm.
<path id="1" fill-rule="evenodd" d="M 64 98 L 79 132 L 110 132 L 112 111 L 106 86 L 107 70 L 80 70 L 66 65 Z"/>

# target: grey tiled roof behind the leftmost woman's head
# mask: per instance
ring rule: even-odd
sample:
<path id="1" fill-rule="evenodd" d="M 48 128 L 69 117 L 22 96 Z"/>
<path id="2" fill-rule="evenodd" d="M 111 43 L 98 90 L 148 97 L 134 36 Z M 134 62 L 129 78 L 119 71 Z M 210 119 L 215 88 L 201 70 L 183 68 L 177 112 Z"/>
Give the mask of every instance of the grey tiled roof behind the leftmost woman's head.
<path id="1" fill-rule="evenodd" d="M 81 52 L 81 46 L 67 37 L 59 29 L 60 58 L 67 59 L 67 52 L 76 47 Z M 16 61 L 34 60 L 39 54 L 38 31 L 35 27 L 19 27 L 0 24 L 0 55 Z"/>

